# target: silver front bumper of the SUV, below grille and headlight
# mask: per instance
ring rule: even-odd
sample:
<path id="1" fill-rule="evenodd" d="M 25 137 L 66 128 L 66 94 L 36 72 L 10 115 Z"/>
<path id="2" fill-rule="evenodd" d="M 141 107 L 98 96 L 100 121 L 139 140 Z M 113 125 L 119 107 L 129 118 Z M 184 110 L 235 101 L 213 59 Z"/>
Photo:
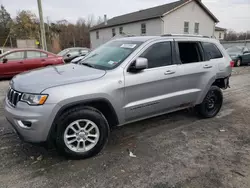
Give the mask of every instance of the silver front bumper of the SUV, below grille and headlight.
<path id="1" fill-rule="evenodd" d="M 24 102 L 18 102 L 16 107 L 12 107 L 5 99 L 4 114 L 22 140 L 41 143 L 47 141 L 54 119 L 53 109 L 55 106 L 55 104 L 30 106 Z M 23 122 L 31 124 L 26 126 Z"/>

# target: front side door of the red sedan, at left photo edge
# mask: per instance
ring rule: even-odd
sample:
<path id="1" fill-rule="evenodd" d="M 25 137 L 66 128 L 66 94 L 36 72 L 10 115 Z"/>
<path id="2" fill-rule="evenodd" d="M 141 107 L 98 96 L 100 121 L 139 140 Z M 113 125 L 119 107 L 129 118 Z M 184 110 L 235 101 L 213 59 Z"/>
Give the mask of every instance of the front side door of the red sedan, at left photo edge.
<path id="1" fill-rule="evenodd" d="M 3 59 L 7 59 L 3 63 Z M 25 71 L 24 51 L 10 52 L 0 59 L 0 77 L 12 77 Z"/>

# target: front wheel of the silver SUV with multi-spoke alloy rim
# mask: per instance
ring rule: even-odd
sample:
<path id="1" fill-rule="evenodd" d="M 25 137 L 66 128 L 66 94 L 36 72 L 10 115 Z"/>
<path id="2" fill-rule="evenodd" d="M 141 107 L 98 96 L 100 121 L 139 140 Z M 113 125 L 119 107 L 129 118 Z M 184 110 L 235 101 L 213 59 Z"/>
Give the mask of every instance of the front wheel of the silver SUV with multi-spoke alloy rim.
<path id="1" fill-rule="evenodd" d="M 85 159 L 98 154 L 106 145 L 109 125 L 105 117 L 93 108 L 73 108 L 56 122 L 56 146 L 70 158 Z"/>

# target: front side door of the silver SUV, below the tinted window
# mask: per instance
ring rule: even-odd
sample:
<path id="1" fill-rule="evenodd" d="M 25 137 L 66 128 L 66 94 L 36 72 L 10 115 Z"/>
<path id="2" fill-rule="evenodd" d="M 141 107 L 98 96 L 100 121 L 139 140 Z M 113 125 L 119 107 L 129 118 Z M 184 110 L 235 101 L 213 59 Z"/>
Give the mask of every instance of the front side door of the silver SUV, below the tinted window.
<path id="1" fill-rule="evenodd" d="M 148 69 L 138 73 L 124 70 L 126 121 L 163 113 L 173 104 L 177 65 L 173 64 L 171 41 L 151 43 L 139 56 L 148 59 Z"/>

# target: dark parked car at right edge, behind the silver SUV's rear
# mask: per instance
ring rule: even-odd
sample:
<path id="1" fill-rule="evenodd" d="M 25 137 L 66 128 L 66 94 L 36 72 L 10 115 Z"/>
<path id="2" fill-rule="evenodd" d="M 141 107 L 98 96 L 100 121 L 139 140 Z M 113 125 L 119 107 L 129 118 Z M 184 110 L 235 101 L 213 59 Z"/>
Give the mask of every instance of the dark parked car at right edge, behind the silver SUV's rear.
<path id="1" fill-rule="evenodd" d="M 228 48 L 227 53 L 234 61 L 234 66 L 248 65 L 250 63 L 250 50 L 245 46 L 233 46 Z"/>

